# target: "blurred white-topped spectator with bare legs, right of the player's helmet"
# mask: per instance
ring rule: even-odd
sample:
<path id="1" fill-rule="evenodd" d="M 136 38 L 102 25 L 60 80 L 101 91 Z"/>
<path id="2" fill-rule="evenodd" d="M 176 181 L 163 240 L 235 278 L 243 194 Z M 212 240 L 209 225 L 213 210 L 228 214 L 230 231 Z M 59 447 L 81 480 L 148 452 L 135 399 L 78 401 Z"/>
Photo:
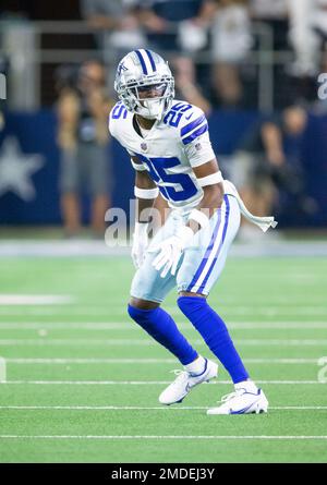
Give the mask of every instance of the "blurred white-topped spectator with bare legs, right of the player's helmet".
<path id="1" fill-rule="evenodd" d="M 214 96 L 222 107 L 240 106 L 243 86 L 240 64 L 252 47 L 246 0 L 216 0 L 213 35 Z"/>

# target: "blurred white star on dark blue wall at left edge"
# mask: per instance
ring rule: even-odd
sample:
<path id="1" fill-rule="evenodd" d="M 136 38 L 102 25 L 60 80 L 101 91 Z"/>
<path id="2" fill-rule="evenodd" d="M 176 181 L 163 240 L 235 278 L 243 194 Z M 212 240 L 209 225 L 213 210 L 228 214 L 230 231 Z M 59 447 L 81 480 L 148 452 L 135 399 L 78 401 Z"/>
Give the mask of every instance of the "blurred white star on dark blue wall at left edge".
<path id="1" fill-rule="evenodd" d="M 15 138 L 5 138 L 0 153 L 0 197 L 13 192 L 25 202 L 35 198 L 32 174 L 45 165 L 43 158 L 23 154 Z"/>

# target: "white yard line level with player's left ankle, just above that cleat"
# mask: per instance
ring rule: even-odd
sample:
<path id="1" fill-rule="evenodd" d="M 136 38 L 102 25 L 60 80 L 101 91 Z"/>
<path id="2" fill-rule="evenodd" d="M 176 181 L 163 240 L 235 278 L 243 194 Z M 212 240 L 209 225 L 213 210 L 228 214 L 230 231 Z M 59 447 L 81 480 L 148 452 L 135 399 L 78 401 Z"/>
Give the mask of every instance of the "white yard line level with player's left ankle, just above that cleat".
<path id="1" fill-rule="evenodd" d="M 319 357 L 316 359 L 243 359 L 246 364 L 315 364 L 317 365 Z M 9 364 L 175 364 L 175 359 L 5 359 Z"/>

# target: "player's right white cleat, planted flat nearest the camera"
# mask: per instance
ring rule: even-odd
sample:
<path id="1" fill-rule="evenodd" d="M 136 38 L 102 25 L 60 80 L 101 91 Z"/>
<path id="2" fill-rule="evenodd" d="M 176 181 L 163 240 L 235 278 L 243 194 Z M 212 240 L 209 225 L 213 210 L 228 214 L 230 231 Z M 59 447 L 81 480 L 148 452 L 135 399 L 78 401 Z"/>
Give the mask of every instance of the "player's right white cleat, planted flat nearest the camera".
<path id="1" fill-rule="evenodd" d="M 218 408 L 211 408 L 207 414 L 259 414 L 268 411 L 268 400 L 262 389 L 249 392 L 246 389 L 237 389 L 221 398 Z"/>

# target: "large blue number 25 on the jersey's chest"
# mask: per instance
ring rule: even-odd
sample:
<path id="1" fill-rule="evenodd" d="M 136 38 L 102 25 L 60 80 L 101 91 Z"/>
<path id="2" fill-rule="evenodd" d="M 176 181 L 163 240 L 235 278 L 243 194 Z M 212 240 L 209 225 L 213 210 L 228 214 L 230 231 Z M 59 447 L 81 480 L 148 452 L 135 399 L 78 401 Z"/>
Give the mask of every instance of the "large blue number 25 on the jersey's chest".
<path id="1" fill-rule="evenodd" d="M 197 187 L 186 173 L 167 173 L 166 169 L 179 166 L 181 162 L 177 157 L 162 158 L 136 154 L 137 158 L 148 167 L 149 174 L 158 184 L 162 196 L 168 201 L 187 201 L 197 193 Z"/>

